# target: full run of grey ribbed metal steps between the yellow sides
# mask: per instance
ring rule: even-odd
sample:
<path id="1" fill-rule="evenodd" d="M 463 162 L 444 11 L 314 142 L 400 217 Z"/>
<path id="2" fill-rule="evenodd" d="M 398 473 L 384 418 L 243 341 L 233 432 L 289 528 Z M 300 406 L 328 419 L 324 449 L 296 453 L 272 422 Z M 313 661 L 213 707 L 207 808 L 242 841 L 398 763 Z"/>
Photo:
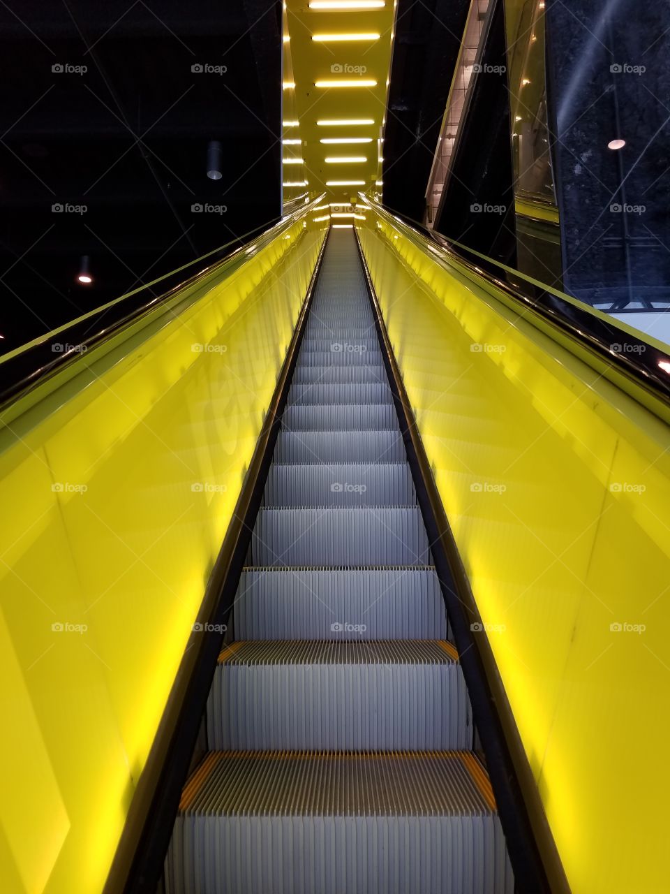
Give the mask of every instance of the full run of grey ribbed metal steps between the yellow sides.
<path id="1" fill-rule="evenodd" d="M 353 230 L 331 230 L 167 894 L 511 894 Z"/>

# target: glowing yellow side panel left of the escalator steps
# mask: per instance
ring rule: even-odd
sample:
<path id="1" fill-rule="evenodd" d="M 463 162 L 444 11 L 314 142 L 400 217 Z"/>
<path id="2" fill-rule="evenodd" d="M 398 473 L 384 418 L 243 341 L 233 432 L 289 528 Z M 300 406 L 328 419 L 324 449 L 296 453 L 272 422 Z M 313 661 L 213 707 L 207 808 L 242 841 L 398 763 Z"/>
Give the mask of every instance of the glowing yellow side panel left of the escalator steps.
<path id="1" fill-rule="evenodd" d="M 314 270 L 312 210 L 2 417 L 2 891 L 103 889 Z"/>

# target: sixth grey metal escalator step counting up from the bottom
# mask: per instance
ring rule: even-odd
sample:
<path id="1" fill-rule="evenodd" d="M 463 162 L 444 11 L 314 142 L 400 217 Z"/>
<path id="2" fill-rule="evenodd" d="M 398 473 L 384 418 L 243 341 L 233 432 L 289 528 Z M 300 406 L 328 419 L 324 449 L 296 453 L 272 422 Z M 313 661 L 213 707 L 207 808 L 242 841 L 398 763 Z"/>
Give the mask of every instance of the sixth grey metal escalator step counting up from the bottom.
<path id="1" fill-rule="evenodd" d="M 406 460 L 399 431 L 286 432 L 280 431 L 275 462 L 400 462 Z"/>

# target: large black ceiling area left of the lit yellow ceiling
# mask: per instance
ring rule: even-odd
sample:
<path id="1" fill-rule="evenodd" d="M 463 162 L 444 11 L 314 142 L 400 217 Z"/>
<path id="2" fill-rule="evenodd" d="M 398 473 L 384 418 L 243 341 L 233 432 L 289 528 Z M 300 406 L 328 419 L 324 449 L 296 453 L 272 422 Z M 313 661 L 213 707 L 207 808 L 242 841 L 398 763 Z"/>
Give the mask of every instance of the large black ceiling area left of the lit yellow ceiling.
<path id="1" fill-rule="evenodd" d="M 279 0 L 3 0 L 0 71 L 0 350 L 280 215 Z"/>

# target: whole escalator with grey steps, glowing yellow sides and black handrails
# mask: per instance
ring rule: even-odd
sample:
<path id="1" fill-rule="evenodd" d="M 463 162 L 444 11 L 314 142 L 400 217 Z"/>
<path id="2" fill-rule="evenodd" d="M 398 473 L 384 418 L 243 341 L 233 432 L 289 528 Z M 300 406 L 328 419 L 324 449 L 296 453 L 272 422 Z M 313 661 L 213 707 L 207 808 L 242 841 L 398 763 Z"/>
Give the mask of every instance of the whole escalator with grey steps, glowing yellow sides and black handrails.
<path id="1" fill-rule="evenodd" d="M 0 889 L 665 890 L 670 353 L 322 200 L 0 359 Z"/>

